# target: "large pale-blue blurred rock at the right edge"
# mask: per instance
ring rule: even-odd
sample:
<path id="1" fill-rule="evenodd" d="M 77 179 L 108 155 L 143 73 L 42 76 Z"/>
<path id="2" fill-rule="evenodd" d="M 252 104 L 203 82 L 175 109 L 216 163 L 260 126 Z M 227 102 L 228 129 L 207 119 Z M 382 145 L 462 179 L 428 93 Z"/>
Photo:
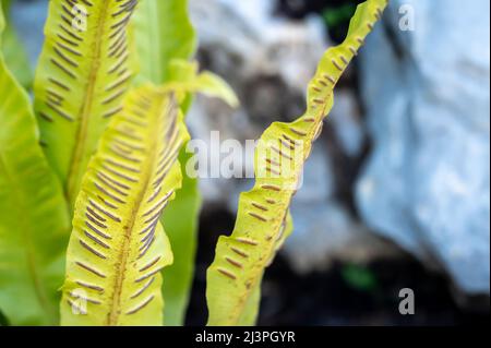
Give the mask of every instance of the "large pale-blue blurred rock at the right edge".
<path id="1" fill-rule="evenodd" d="M 414 31 L 399 27 L 403 3 Z M 392 1 L 360 58 L 374 146 L 359 209 L 469 293 L 490 290 L 489 10 L 486 0 Z"/>

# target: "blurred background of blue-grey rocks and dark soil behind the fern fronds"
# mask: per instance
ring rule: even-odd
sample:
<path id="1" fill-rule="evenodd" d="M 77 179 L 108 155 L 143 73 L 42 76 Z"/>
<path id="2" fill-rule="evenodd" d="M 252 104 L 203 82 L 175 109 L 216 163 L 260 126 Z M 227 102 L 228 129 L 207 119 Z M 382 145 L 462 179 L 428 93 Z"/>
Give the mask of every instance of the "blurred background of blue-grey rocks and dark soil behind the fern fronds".
<path id="1" fill-rule="evenodd" d="M 13 4 L 33 69 L 47 2 Z M 192 135 L 246 142 L 302 115 L 316 62 L 343 40 L 358 2 L 190 0 L 201 67 L 241 100 L 232 110 L 197 97 Z M 291 208 L 295 232 L 265 275 L 259 324 L 489 320 L 489 13 L 487 0 L 391 0 L 335 93 Z M 201 185 L 191 325 L 206 321 L 205 272 L 251 182 Z M 403 288 L 415 292 L 414 315 L 398 311 Z"/>

